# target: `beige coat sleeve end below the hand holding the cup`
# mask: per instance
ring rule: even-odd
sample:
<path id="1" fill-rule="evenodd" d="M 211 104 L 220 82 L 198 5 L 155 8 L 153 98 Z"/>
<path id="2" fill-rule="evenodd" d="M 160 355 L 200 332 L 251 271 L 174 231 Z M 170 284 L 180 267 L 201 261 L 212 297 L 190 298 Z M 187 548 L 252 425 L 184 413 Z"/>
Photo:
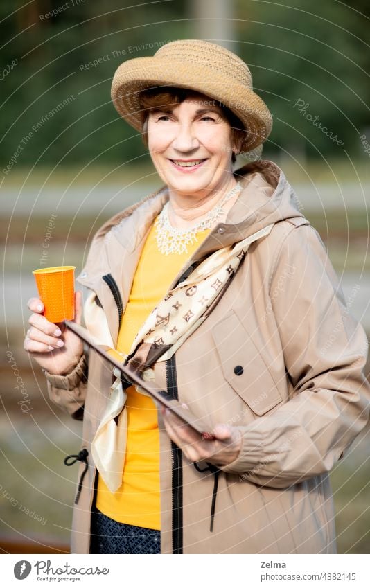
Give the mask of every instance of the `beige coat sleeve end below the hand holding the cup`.
<path id="1" fill-rule="evenodd" d="M 67 375 L 55 375 L 43 370 L 49 397 L 72 418 L 82 420 L 87 390 L 87 358 L 80 358 L 76 368 Z"/>

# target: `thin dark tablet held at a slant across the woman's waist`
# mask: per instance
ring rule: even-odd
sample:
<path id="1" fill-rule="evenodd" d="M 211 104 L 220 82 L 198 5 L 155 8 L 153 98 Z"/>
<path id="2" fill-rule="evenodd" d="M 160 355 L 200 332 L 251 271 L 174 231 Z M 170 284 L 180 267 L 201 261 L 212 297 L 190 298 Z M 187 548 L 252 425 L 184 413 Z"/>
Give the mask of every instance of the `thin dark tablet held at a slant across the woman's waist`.
<path id="1" fill-rule="evenodd" d="M 209 427 L 207 427 L 207 425 L 205 425 L 200 418 L 197 418 L 195 415 L 193 415 L 193 413 L 191 413 L 191 411 L 184 408 L 182 404 L 180 404 L 178 400 L 175 400 L 175 398 L 172 398 L 166 390 L 159 389 L 159 387 L 156 386 L 153 382 L 146 382 L 146 380 L 143 380 L 143 378 L 138 373 L 128 368 L 127 366 L 124 366 L 121 364 L 121 362 L 118 361 L 118 359 L 107 353 L 107 351 L 102 346 L 96 343 L 94 337 L 91 337 L 89 331 L 85 327 L 82 327 L 81 325 L 71 321 L 64 322 L 69 330 L 78 335 L 78 337 L 80 337 L 82 341 L 85 341 L 89 347 L 93 348 L 96 353 L 101 355 L 101 357 L 104 357 L 104 359 L 107 359 L 107 361 L 112 364 L 112 366 L 118 368 L 118 370 L 121 371 L 121 373 L 124 375 L 125 380 L 143 388 L 143 390 L 145 390 L 153 400 L 155 400 L 162 407 L 166 407 L 170 411 L 173 411 L 176 416 L 184 420 L 186 425 L 190 425 L 195 431 L 197 431 L 197 433 L 202 435 L 204 439 L 211 440 L 215 438 L 212 433 L 207 431 Z"/>

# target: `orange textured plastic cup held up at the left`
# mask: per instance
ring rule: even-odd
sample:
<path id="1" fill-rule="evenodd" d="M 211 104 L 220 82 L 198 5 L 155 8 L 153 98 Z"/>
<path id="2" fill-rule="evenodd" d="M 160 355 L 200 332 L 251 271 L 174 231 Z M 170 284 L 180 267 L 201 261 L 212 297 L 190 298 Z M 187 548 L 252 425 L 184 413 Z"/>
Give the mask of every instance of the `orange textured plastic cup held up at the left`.
<path id="1" fill-rule="evenodd" d="M 51 323 L 73 321 L 75 317 L 75 269 L 74 265 L 59 265 L 32 272 L 44 304 L 44 316 Z"/>

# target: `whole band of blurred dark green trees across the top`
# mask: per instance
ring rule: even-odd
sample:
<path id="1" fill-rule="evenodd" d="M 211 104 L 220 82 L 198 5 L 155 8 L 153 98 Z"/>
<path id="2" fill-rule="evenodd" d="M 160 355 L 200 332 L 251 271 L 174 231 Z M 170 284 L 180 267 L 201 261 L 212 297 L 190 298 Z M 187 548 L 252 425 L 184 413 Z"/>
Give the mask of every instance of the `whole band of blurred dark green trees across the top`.
<path id="1" fill-rule="evenodd" d="M 363 154 L 358 135 L 369 126 L 367 0 L 297 0 L 294 6 L 234 0 L 227 10 L 227 3 L 211 6 L 208 0 L 197 8 L 194 0 L 132 4 L 34 0 L 15 10 L 14 1 L 1 2 L 1 169 L 19 145 L 24 149 L 12 169 L 37 160 L 116 164 L 142 157 L 141 139 L 109 98 L 114 71 L 165 42 L 196 36 L 221 44 L 234 39 L 234 51 L 249 64 L 254 87 L 274 114 L 267 154 L 281 148 L 313 157 L 343 157 L 344 149 Z M 221 14 L 223 23 L 215 20 Z M 299 112 L 298 99 L 343 146 Z"/>

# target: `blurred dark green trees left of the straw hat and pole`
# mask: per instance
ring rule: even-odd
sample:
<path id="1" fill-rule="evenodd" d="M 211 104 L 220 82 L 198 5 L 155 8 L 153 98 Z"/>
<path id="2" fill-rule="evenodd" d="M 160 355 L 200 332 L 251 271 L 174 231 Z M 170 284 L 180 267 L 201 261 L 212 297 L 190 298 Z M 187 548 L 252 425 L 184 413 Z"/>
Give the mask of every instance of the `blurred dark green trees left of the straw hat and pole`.
<path id="1" fill-rule="evenodd" d="M 114 71 L 123 60 L 152 55 L 184 31 L 188 37 L 188 24 L 181 3 L 132 4 L 38 0 L 10 15 L 12 1 L 1 3 L 2 38 L 7 40 L 1 69 L 17 60 L 1 82 L 2 168 L 19 145 L 24 150 L 17 165 L 35 163 L 37 158 L 42 164 L 94 157 L 98 162 L 120 162 L 143 154 L 140 139 L 123 142 L 136 133 L 119 118 L 110 100 Z M 69 102 L 60 107 L 63 100 Z M 30 133 L 31 141 L 24 145 L 24 136 Z"/>

